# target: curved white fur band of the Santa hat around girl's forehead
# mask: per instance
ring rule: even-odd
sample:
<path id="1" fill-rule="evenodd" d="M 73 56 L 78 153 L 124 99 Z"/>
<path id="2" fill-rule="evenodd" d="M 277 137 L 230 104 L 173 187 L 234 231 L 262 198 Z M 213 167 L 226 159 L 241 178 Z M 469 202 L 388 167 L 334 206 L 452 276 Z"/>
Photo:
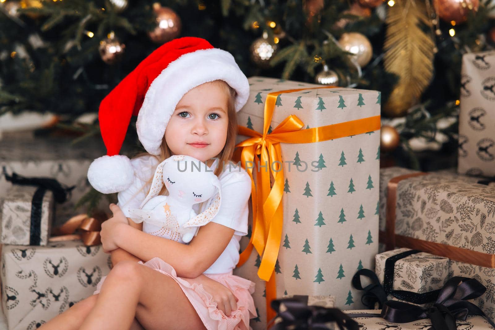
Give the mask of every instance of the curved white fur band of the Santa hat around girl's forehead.
<path id="1" fill-rule="evenodd" d="M 136 122 L 139 141 L 148 153 L 160 153 L 165 128 L 182 96 L 217 79 L 236 90 L 236 111 L 241 110 L 249 97 L 249 83 L 228 51 L 209 48 L 184 54 L 153 80 Z"/>

